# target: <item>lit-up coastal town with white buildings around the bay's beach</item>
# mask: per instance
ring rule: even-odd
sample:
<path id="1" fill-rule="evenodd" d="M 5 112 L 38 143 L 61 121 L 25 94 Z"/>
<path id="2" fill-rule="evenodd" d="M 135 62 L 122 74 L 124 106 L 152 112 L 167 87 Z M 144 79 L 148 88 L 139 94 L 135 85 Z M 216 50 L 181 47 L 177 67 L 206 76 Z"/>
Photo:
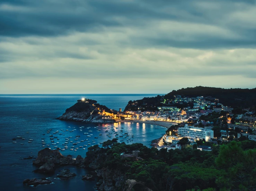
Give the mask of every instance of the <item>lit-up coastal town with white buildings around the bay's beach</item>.
<path id="1" fill-rule="evenodd" d="M 175 95 L 173 100 L 160 98 L 161 106 L 154 105 L 156 111 L 144 110 L 137 101 L 129 102 L 136 110 L 99 112 L 103 118 L 116 121 L 158 124 L 169 128 L 159 140 L 157 149 L 181 149 L 186 138 L 186 147 L 196 147 L 211 151 L 212 144 L 233 139 L 256 140 L 255 108 L 231 108 L 223 105 L 218 98 L 184 97 Z M 186 105 L 184 108 L 174 104 Z M 138 108 L 138 109 L 137 109 Z M 205 142 L 206 143 L 205 145 Z"/>

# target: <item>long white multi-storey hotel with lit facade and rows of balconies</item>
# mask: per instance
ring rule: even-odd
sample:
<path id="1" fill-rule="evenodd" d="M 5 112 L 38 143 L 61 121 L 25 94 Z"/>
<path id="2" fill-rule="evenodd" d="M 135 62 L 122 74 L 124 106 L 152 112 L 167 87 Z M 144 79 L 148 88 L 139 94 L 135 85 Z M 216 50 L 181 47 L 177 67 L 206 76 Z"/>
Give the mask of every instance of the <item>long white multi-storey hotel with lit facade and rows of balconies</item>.
<path id="1" fill-rule="evenodd" d="M 210 141 L 213 138 L 213 130 L 193 126 L 188 127 L 187 124 L 185 127 L 178 128 L 177 133 L 180 137 L 187 137 L 194 140 L 205 139 L 205 141 Z"/>

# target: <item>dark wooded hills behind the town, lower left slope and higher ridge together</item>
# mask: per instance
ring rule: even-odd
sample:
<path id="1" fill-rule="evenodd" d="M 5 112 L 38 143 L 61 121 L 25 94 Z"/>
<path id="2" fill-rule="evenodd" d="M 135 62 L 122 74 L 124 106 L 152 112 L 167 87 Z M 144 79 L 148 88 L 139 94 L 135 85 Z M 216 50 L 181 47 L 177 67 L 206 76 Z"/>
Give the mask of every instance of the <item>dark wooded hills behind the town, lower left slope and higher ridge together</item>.
<path id="1" fill-rule="evenodd" d="M 165 105 L 165 100 L 173 100 L 175 95 L 182 97 L 197 97 L 211 96 L 218 98 L 219 102 L 223 105 L 230 106 L 233 108 L 249 108 L 256 105 L 256 88 L 254 89 L 224 89 L 224 88 L 212 88 L 197 86 L 194 88 L 182 88 L 180 90 L 173 90 L 165 96 L 157 96 L 153 98 L 143 98 L 141 100 L 129 101 L 125 110 L 157 110 L 157 106 Z M 177 106 L 177 104 L 171 104 L 169 106 Z M 185 106 L 185 105 L 184 105 Z"/>

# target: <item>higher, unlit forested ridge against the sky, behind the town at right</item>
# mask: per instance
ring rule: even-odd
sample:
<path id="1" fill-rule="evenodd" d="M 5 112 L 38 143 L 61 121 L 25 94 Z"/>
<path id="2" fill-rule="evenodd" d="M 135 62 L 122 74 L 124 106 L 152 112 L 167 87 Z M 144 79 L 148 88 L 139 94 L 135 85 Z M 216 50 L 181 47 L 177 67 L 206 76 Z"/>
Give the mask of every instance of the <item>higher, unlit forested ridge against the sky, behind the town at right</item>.
<path id="1" fill-rule="evenodd" d="M 173 99 L 175 95 L 197 97 L 197 96 L 211 96 L 218 98 L 223 105 L 230 107 L 248 108 L 256 105 L 256 88 L 254 89 L 224 89 L 197 86 L 194 88 L 182 88 L 180 90 L 173 90 L 165 95 L 165 99 Z"/>

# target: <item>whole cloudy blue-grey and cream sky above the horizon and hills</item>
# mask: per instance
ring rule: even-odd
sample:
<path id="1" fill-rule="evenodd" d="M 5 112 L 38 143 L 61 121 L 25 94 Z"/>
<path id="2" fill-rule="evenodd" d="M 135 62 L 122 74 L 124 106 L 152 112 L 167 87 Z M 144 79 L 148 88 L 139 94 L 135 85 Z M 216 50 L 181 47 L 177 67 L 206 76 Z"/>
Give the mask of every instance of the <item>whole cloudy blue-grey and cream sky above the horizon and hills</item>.
<path id="1" fill-rule="evenodd" d="M 0 94 L 256 87 L 255 0 L 1 0 Z"/>

